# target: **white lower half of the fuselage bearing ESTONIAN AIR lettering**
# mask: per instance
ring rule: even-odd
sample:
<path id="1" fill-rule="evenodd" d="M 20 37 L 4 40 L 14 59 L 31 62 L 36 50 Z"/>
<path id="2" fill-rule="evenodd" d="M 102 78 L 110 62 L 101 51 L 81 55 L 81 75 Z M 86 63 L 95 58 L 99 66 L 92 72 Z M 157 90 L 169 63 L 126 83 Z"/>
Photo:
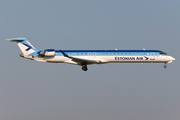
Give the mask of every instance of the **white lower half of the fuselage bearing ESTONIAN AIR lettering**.
<path id="1" fill-rule="evenodd" d="M 162 63 L 168 62 L 164 56 L 155 56 L 155 59 L 151 59 L 150 56 L 72 56 L 79 59 L 87 59 L 87 60 L 96 60 L 99 63 L 89 63 L 90 64 L 104 64 L 104 63 Z M 46 62 L 51 63 L 69 63 L 69 64 L 77 64 L 73 62 L 71 59 L 64 56 L 55 56 L 55 57 L 45 57 L 43 59 Z"/>

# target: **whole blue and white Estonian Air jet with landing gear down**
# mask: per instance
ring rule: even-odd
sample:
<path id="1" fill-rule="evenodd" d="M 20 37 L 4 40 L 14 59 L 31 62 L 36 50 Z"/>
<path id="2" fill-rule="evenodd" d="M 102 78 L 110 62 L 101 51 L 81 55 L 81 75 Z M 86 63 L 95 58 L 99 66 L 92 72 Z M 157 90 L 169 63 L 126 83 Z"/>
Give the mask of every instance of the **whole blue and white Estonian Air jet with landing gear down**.
<path id="1" fill-rule="evenodd" d="M 175 58 L 160 50 L 55 50 L 36 49 L 25 37 L 16 37 L 16 42 L 22 54 L 20 57 L 49 63 L 69 63 L 82 66 L 87 71 L 87 65 L 105 63 L 172 63 Z"/>

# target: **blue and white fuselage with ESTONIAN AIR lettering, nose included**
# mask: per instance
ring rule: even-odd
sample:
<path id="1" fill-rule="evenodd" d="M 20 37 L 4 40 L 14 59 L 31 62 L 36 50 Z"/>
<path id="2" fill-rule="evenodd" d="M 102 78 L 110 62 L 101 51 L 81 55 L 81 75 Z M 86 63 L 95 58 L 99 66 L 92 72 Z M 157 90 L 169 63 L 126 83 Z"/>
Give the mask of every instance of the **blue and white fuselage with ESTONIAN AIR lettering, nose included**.
<path id="1" fill-rule="evenodd" d="M 96 60 L 97 63 L 171 63 L 175 59 L 167 54 L 160 54 L 159 51 L 65 51 L 65 53 L 73 58 Z M 51 63 L 70 63 L 78 64 L 68 57 L 63 56 L 61 52 L 56 52 L 55 56 L 42 57 L 42 56 L 27 56 L 37 61 L 51 62 Z M 91 64 L 91 63 L 90 63 Z"/>

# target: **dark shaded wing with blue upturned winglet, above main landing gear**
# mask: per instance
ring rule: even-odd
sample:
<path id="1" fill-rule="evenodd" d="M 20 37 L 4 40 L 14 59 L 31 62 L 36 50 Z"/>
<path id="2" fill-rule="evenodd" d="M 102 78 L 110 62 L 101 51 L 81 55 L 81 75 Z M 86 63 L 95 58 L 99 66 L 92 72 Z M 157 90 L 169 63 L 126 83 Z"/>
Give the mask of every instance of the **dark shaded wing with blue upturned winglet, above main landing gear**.
<path id="1" fill-rule="evenodd" d="M 82 59 L 82 58 L 76 58 L 72 56 L 68 56 L 65 52 L 61 50 L 64 57 L 67 57 L 71 59 L 73 62 L 76 62 L 78 65 L 87 65 L 87 64 L 98 64 L 101 63 L 101 61 L 98 60 L 89 60 L 89 59 Z"/>

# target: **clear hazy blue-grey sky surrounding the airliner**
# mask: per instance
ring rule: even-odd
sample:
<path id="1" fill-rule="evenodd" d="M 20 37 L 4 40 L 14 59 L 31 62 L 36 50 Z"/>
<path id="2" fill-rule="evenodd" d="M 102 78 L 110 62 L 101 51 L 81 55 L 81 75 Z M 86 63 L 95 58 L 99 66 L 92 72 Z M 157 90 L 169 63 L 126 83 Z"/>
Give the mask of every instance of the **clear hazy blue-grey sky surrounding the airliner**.
<path id="1" fill-rule="evenodd" d="M 1 120 L 179 120 L 179 0 L 0 0 Z M 80 66 L 19 57 L 47 49 L 159 49 L 163 64 Z"/>

